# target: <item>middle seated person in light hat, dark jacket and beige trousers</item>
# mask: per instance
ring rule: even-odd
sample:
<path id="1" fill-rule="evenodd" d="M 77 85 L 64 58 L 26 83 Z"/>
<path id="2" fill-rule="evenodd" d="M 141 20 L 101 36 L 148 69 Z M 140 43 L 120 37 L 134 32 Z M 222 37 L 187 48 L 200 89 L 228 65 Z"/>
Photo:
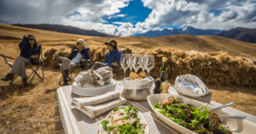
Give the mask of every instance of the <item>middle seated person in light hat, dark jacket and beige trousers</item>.
<path id="1" fill-rule="evenodd" d="M 64 85 L 67 85 L 67 81 L 71 81 L 68 77 L 69 69 L 75 67 L 77 64 L 82 62 L 83 60 L 90 59 L 89 50 L 84 46 L 84 40 L 79 39 L 76 43 L 76 47 L 73 49 L 72 53 L 68 56 L 68 58 L 62 59 L 61 73 L 63 75 Z M 84 68 L 83 64 L 80 66 L 82 69 Z"/>

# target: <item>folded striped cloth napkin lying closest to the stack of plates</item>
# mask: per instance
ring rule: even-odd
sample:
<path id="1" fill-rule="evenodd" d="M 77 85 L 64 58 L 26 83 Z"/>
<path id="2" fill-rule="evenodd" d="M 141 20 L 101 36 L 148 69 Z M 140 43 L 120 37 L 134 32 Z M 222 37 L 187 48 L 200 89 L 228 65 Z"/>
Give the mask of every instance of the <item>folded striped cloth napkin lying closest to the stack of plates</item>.
<path id="1" fill-rule="evenodd" d="M 106 103 L 110 100 L 119 98 L 120 96 L 120 92 L 107 92 L 101 96 L 91 98 L 73 98 L 72 102 L 76 104 L 77 108 L 82 109 L 84 106 L 93 106 L 99 103 Z"/>

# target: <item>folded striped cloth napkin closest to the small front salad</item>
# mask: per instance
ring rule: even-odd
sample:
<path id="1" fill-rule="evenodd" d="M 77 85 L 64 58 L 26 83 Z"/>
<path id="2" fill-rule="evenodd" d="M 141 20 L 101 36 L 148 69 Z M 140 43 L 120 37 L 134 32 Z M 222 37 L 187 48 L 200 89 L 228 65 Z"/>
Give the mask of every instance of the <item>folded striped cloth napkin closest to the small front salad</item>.
<path id="1" fill-rule="evenodd" d="M 126 102 L 127 100 L 125 98 L 118 98 L 107 103 L 101 103 L 93 106 L 84 106 L 83 109 L 79 109 L 77 107 L 75 108 L 79 109 L 84 114 L 88 115 L 90 118 L 95 118 L 96 116 L 103 114 L 109 110 L 112 110 L 116 107 L 119 107 L 125 104 Z"/>

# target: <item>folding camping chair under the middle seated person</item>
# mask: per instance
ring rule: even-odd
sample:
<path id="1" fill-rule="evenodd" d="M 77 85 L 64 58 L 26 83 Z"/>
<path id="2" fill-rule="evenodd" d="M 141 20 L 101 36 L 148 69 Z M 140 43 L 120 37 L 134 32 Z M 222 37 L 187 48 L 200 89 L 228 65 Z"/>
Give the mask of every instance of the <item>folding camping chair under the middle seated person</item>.
<path id="1" fill-rule="evenodd" d="M 73 47 L 73 48 L 74 48 L 74 47 Z M 88 47 L 87 50 L 88 50 L 88 52 L 89 52 L 90 48 Z M 61 59 L 63 59 L 63 57 L 57 56 L 57 55 L 55 55 L 55 54 L 52 55 L 52 56 L 57 59 L 57 64 L 58 64 L 58 65 L 61 65 L 59 59 L 61 60 Z M 89 54 L 89 56 L 90 56 L 90 54 Z M 83 64 L 84 69 L 81 69 L 81 68 L 80 68 L 80 66 L 81 66 L 80 63 Z M 90 61 L 90 57 L 89 57 L 89 59 L 87 59 L 87 60 L 85 59 L 85 61 L 82 60 L 82 62 L 80 62 L 80 63 L 77 64 L 75 67 L 73 67 L 73 68 L 70 69 L 71 71 L 69 71 L 68 75 L 69 75 L 69 77 L 71 78 L 71 81 L 74 79 L 75 76 L 79 75 L 79 72 L 80 72 L 80 71 L 86 70 L 88 64 L 90 64 L 90 68 L 92 67 L 92 64 L 91 64 L 91 61 Z M 74 71 L 74 70 L 77 70 L 77 69 L 79 70 L 79 72 L 78 72 L 76 75 L 74 75 L 74 76 L 72 77 L 73 71 Z M 60 85 L 62 81 L 63 81 L 63 75 L 61 76 L 61 79 L 60 79 L 60 81 L 58 82 L 58 84 Z"/>

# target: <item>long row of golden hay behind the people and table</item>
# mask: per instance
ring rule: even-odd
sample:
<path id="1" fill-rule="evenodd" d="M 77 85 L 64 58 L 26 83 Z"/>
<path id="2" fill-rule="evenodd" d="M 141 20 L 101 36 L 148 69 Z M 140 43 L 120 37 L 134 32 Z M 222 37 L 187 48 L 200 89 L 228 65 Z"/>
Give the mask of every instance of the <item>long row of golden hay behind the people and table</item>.
<path id="1" fill-rule="evenodd" d="M 241 59 L 230 56 L 225 52 L 182 51 L 177 49 L 144 50 L 125 47 L 126 53 L 150 54 L 154 55 L 154 69 L 150 70 L 150 75 L 154 78 L 160 76 L 162 57 L 167 57 L 168 79 L 174 81 L 177 75 L 197 75 L 207 84 L 224 86 L 250 86 L 256 87 L 256 60 Z M 45 66 L 58 69 L 56 60 L 51 57 L 56 54 L 67 57 L 71 49 L 68 47 L 54 47 L 44 53 Z M 104 62 L 108 53 L 107 47 L 90 47 L 90 59 L 92 61 Z M 140 71 L 140 70 L 139 70 Z M 126 71 L 129 75 L 130 70 Z"/>

